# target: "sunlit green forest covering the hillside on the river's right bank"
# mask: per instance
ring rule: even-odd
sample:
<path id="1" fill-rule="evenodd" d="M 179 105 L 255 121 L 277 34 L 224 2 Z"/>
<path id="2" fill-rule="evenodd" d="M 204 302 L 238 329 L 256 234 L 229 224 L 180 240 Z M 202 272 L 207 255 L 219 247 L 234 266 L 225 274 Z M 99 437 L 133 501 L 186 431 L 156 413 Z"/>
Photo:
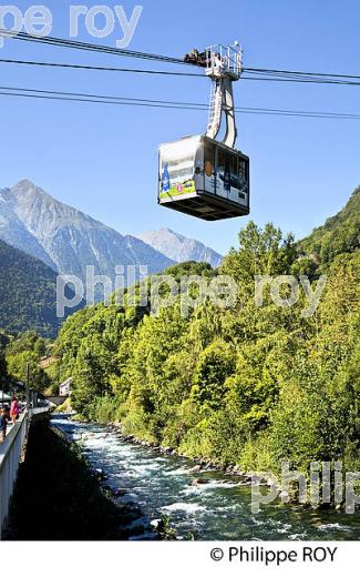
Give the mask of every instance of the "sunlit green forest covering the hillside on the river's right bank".
<path id="1" fill-rule="evenodd" d="M 60 377 L 73 377 L 72 405 L 88 418 L 120 421 L 127 434 L 243 469 L 278 470 L 284 459 L 342 460 L 358 470 L 360 418 L 360 189 L 311 236 L 249 223 L 218 271 L 185 263 L 167 271 L 232 275 L 237 301 L 204 302 L 185 318 L 177 301 L 151 315 L 138 305 L 84 308 L 55 343 Z M 255 276 L 307 275 L 305 291 L 278 306 Z M 284 296 L 288 296 L 284 294 Z"/>

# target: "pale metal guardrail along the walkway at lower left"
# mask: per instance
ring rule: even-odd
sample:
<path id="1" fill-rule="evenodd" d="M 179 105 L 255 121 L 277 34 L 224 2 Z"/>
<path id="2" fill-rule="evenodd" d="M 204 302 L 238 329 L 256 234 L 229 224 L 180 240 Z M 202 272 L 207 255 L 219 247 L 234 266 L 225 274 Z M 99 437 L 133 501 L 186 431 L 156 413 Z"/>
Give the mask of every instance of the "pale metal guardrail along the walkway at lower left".
<path id="1" fill-rule="evenodd" d="M 10 499 L 18 476 L 22 449 L 33 416 L 48 413 L 49 408 L 30 408 L 20 415 L 9 435 L 0 445 L 0 539 L 9 514 Z"/>

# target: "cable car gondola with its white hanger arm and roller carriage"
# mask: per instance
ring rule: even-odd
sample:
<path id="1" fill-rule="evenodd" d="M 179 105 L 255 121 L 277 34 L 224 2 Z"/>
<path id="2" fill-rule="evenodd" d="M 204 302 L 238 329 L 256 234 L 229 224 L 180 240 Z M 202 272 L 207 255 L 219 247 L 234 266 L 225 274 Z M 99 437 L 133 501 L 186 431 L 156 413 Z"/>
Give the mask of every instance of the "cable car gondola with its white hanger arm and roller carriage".
<path id="1" fill-rule="evenodd" d="M 206 221 L 249 214 L 249 159 L 235 149 L 233 82 L 243 71 L 243 49 L 216 45 L 192 51 L 186 62 L 213 80 L 206 134 L 160 145 L 158 203 Z M 226 131 L 216 140 L 223 113 Z"/>

